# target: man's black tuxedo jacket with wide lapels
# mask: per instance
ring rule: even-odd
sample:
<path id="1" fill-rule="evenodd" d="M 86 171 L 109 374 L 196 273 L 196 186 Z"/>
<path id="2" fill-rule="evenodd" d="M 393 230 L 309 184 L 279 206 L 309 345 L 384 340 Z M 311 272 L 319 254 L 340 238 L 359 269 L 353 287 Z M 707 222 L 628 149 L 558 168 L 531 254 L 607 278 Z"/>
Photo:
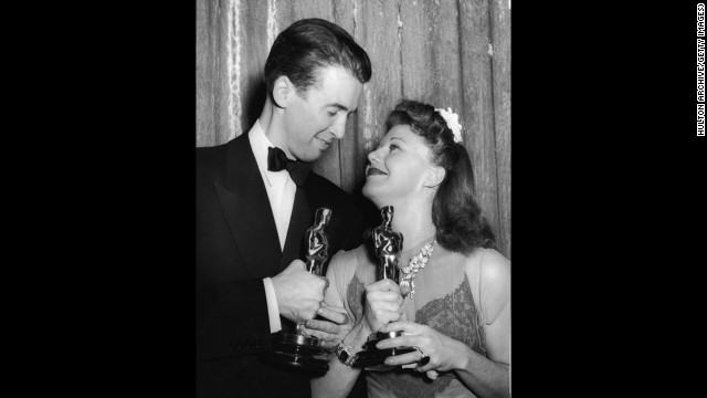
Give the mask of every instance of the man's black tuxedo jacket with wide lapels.
<path id="1" fill-rule="evenodd" d="M 272 350 L 263 279 L 305 261 L 305 232 L 317 208 L 333 210 L 329 259 L 361 242 L 354 199 L 309 172 L 297 187 L 281 250 L 267 192 L 247 134 L 197 148 L 197 396 L 310 396 L 309 377 L 258 355 Z M 326 264 L 325 264 L 326 269 Z M 283 327 L 291 324 L 281 318 Z"/>

